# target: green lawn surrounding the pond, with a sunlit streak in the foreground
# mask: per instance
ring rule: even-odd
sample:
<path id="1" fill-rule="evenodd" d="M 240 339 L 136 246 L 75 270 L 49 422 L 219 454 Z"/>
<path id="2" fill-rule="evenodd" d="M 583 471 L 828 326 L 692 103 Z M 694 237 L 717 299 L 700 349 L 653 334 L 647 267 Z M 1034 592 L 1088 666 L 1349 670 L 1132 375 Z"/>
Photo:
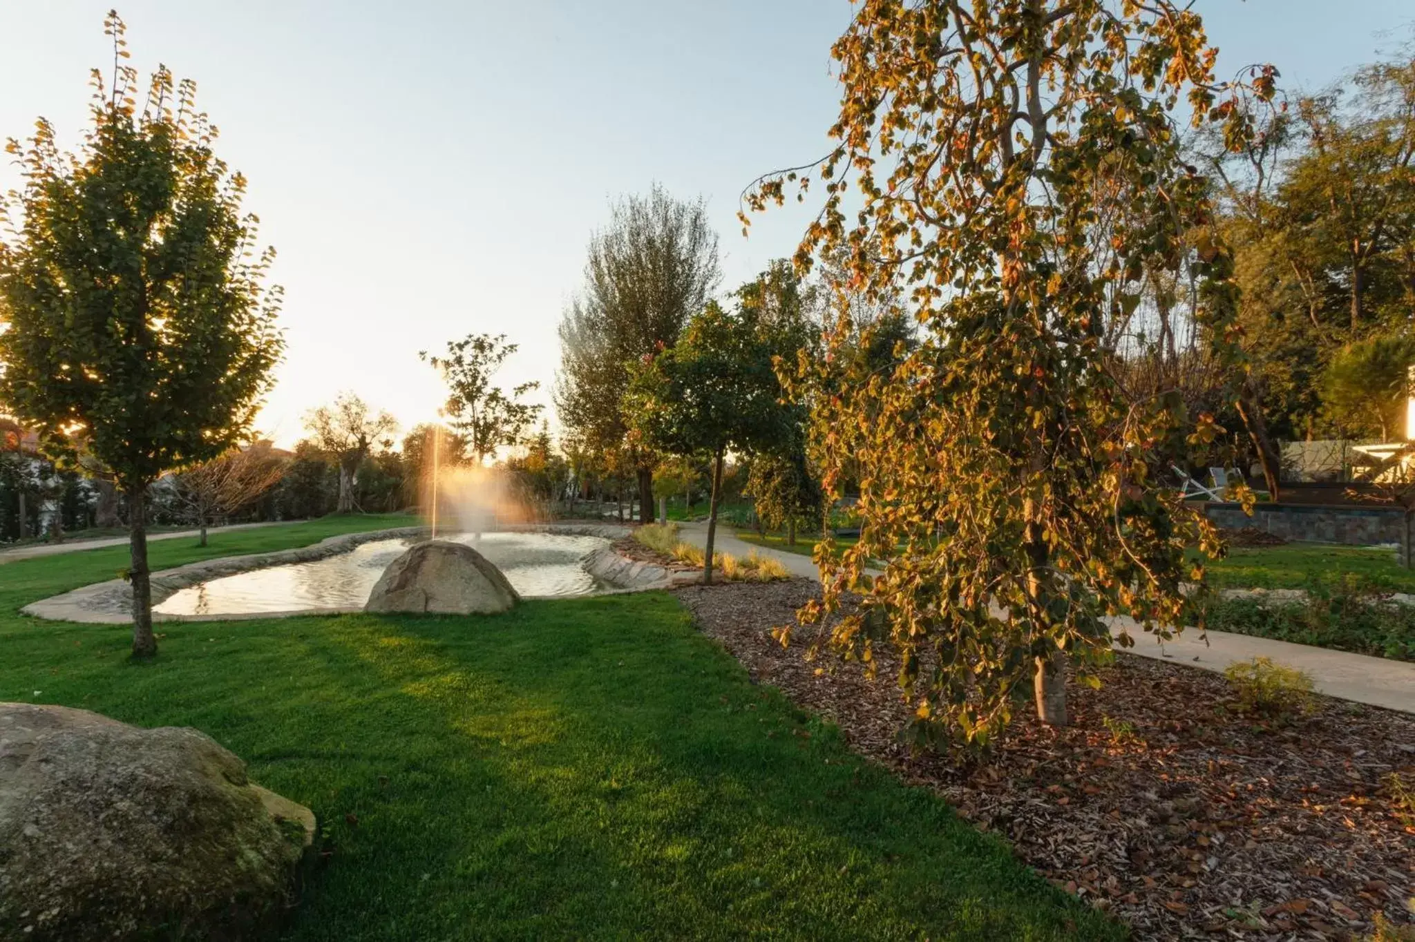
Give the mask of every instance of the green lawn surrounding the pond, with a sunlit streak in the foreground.
<path id="1" fill-rule="evenodd" d="M 215 533 L 153 556 L 406 519 Z M 333 856 L 286 939 L 1125 935 L 754 686 L 671 595 L 173 622 L 149 665 L 127 661 L 125 628 L 17 615 L 122 564 L 100 549 L 0 567 L 0 700 L 194 726 L 311 806 Z"/>

